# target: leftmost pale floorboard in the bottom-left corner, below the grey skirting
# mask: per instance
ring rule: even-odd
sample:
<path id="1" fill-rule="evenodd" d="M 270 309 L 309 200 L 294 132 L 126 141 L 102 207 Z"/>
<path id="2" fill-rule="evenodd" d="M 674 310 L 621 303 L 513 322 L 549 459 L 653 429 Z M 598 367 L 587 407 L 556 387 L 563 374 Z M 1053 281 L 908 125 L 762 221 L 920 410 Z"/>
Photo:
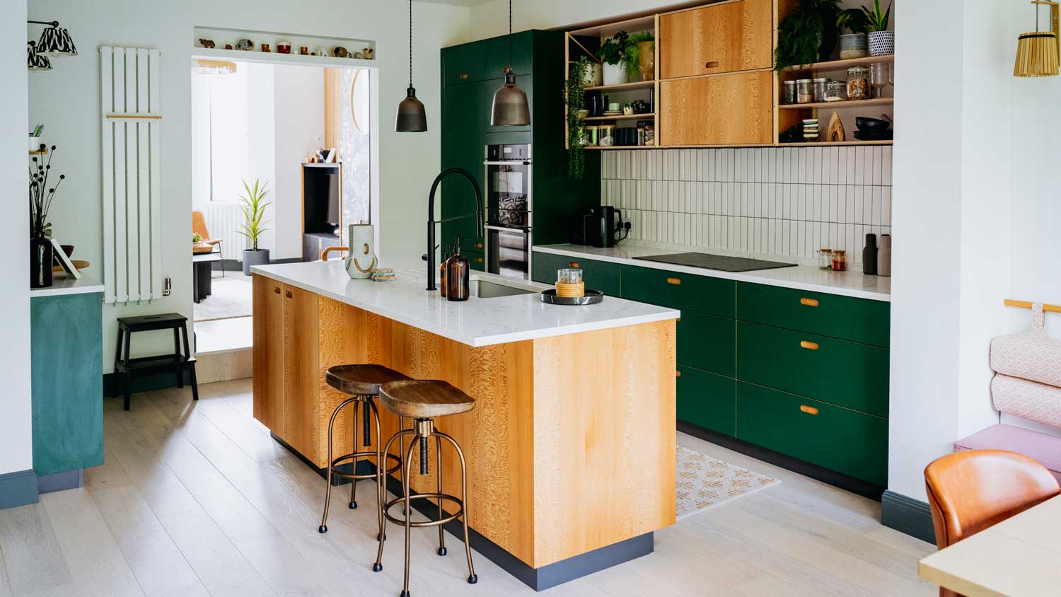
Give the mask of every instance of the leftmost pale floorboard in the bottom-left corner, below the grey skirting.
<path id="1" fill-rule="evenodd" d="M 0 550 L 16 597 L 73 584 L 52 523 L 41 504 L 0 510 Z"/>

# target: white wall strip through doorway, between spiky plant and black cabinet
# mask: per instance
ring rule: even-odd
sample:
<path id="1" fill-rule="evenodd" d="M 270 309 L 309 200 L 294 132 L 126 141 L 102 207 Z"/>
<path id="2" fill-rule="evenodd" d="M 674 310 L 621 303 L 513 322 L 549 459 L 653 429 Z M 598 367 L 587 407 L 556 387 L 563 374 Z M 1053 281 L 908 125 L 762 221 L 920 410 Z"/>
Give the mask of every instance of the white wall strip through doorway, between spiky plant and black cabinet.
<path id="1" fill-rule="evenodd" d="M 302 256 L 302 162 L 310 147 L 325 139 L 325 70 L 274 67 L 276 93 L 276 179 L 272 185 L 276 208 L 277 245 L 273 259 Z"/>

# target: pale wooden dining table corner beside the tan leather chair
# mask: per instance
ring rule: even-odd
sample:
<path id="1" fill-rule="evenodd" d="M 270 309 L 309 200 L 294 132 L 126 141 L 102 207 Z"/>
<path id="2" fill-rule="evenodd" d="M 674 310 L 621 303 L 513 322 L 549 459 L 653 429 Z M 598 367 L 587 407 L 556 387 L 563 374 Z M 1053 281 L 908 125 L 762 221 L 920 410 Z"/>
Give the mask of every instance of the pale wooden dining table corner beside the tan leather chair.
<path id="1" fill-rule="evenodd" d="M 1061 496 L 921 560 L 918 574 L 966 597 L 1061 595 Z"/>

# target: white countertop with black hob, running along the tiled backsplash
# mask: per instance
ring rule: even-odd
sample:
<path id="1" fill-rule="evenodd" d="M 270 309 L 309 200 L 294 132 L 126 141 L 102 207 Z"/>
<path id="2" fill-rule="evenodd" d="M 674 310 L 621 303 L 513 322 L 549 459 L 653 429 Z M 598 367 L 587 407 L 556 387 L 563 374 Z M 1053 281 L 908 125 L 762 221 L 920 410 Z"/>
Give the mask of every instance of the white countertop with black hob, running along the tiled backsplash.
<path id="1" fill-rule="evenodd" d="M 637 265 L 640 267 L 651 267 L 655 269 L 665 269 L 667 271 L 681 271 L 694 276 L 708 276 L 710 278 L 723 278 L 726 280 L 740 280 L 743 282 L 753 282 L 769 286 L 784 286 L 786 288 L 798 288 L 801 291 L 812 291 L 827 293 L 831 295 L 841 295 L 848 297 L 865 298 L 871 300 L 891 301 L 891 278 L 887 276 L 866 276 L 860 271 L 830 271 L 819 269 L 812 265 L 797 265 L 795 267 L 779 267 L 777 269 L 760 269 L 756 271 L 720 271 L 718 269 L 705 269 L 702 267 L 691 267 L 688 265 L 673 265 L 669 263 L 659 263 L 634 259 L 637 257 L 666 254 L 677 252 L 689 252 L 675 249 L 661 249 L 641 245 L 622 244 L 612 248 L 597 248 L 585 245 L 540 245 L 534 248 L 539 252 L 562 254 L 575 258 L 595 259 L 599 261 L 610 261 L 625 265 Z M 700 251 L 707 252 L 707 251 Z M 712 251 L 716 254 L 735 254 L 732 251 Z M 744 256 L 742 256 L 744 257 Z M 785 261 L 776 259 L 775 261 Z"/>

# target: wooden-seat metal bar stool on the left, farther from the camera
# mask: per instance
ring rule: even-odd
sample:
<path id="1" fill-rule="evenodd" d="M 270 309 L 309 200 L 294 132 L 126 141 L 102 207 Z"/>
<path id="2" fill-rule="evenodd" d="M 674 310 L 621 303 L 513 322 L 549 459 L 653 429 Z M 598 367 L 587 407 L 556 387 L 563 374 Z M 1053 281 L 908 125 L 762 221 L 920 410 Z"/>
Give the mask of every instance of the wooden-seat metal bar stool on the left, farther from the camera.
<path id="1" fill-rule="evenodd" d="M 325 489 L 325 513 L 320 516 L 320 526 L 317 527 L 318 532 L 328 532 L 328 506 L 331 504 L 331 488 L 332 488 L 332 476 L 340 476 L 350 479 L 350 509 L 358 507 L 358 481 L 360 479 L 376 479 L 376 502 L 377 510 L 380 509 L 380 505 L 383 504 L 383 496 L 386 495 L 383 489 L 382 480 L 386 478 L 386 475 L 398 471 L 401 469 L 401 458 L 393 454 L 388 454 L 388 451 L 380 450 L 380 444 L 382 443 L 382 434 L 380 433 L 380 412 L 376 408 L 375 399 L 380 394 L 380 385 L 386 382 L 396 382 L 408 380 L 407 376 L 395 371 L 394 369 L 388 369 L 382 365 L 336 365 L 335 367 L 329 367 L 325 371 L 325 377 L 328 380 L 328 385 L 337 389 L 343 393 L 351 394 L 351 398 L 344 400 L 335 407 L 332 411 L 331 419 L 328 420 L 328 485 Z M 338 417 L 341 410 L 347 405 L 353 405 L 353 418 L 352 424 L 350 425 L 352 436 L 353 436 L 353 452 L 350 454 L 344 454 L 338 458 L 332 458 L 332 440 L 333 440 L 333 429 L 335 427 L 335 418 Z M 371 445 L 371 435 L 370 427 L 371 422 L 376 421 L 376 451 L 358 451 L 358 410 L 361 409 L 363 412 L 362 418 L 362 429 L 363 429 L 363 445 Z M 369 416 L 369 410 L 371 414 Z M 405 428 L 405 420 L 401 419 L 401 428 Z M 389 444 L 388 444 L 389 445 Z M 394 460 L 395 464 L 393 468 L 384 472 L 386 466 L 385 458 Z M 358 460 L 361 459 L 376 459 L 376 472 L 358 474 Z M 344 464 L 350 464 L 350 472 L 346 473 L 337 470 L 338 467 Z M 404 478 L 404 477 L 403 477 Z M 382 514 L 380 514 L 380 528 L 383 528 Z M 377 540 L 382 539 L 378 537 Z"/>

